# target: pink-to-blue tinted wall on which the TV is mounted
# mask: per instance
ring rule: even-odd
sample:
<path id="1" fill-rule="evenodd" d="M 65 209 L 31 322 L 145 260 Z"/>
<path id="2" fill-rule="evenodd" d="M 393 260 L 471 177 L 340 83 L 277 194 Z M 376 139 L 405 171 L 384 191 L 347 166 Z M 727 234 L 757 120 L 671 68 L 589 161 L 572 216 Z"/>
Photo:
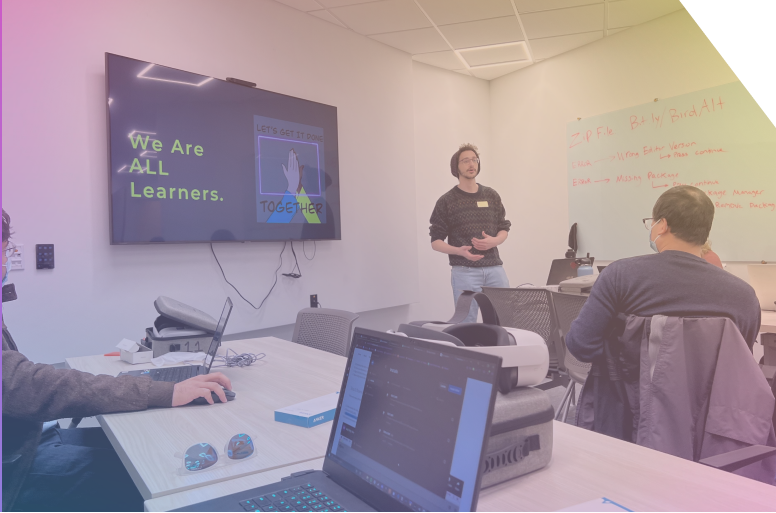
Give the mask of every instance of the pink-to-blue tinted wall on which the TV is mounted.
<path id="1" fill-rule="evenodd" d="M 304 277 L 281 276 L 259 313 L 205 244 L 110 246 L 104 52 L 337 106 L 343 240 L 300 255 Z M 311 293 L 357 312 L 417 301 L 413 97 L 409 55 L 271 0 L 3 2 L 3 207 L 27 248 L 6 323 L 54 362 L 139 338 L 159 295 L 214 315 L 230 295 L 231 333 L 293 323 Z M 36 243 L 55 244 L 56 269 L 33 268 Z M 279 249 L 216 247 L 254 303 Z M 292 265 L 289 252 L 281 272 Z"/>

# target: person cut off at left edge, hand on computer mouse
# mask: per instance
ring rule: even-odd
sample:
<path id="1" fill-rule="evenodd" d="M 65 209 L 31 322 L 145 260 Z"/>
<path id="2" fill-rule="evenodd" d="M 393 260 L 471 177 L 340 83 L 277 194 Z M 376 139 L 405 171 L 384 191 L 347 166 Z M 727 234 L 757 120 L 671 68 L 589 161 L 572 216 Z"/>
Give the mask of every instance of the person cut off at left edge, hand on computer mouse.
<path id="1" fill-rule="evenodd" d="M 3 210 L 4 285 L 14 252 L 10 236 Z M 45 313 L 40 318 L 45 322 Z M 225 403 L 221 386 L 232 389 L 220 372 L 173 384 L 32 363 L 3 322 L 3 511 L 143 511 L 143 497 L 102 428 L 41 433 L 43 422 L 182 406 L 198 397 L 213 404 L 211 392 Z"/>

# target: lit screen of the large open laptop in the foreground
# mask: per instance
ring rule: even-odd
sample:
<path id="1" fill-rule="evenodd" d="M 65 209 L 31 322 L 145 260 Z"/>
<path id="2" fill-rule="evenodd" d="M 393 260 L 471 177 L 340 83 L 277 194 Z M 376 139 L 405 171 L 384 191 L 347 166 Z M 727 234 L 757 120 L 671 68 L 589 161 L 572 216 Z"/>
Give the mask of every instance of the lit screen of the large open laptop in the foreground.
<path id="1" fill-rule="evenodd" d="M 472 511 L 500 366 L 356 329 L 327 460 L 406 509 Z"/>

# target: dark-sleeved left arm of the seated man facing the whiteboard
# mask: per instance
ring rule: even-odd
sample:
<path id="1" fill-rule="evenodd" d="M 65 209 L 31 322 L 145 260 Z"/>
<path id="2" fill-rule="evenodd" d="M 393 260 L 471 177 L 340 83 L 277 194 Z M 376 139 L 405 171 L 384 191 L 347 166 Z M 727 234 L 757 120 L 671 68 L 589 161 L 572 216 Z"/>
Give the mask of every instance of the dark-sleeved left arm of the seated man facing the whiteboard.
<path id="1" fill-rule="evenodd" d="M 580 362 L 592 362 L 604 350 L 609 325 L 617 317 L 615 269 L 598 276 L 590 297 L 566 334 L 566 347 Z"/>

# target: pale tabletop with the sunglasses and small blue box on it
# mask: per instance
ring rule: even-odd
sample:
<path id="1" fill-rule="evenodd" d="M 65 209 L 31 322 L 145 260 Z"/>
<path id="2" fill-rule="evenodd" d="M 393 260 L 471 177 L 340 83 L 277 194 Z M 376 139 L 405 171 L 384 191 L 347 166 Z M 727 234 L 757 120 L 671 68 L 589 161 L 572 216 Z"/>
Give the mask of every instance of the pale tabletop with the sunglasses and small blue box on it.
<path id="1" fill-rule="evenodd" d="M 339 391 L 347 360 L 277 338 L 224 342 L 219 354 L 226 348 L 267 355 L 250 367 L 217 369 L 232 381 L 234 401 L 97 417 L 145 499 L 324 456 L 330 423 L 309 429 L 292 426 L 275 422 L 274 411 Z M 106 356 L 69 358 L 67 363 L 73 369 L 113 376 L 153 367 Z M 191 445 L 207 442 L 221 454 L 238 433 L 253 437 L 255 457 L 200 473 L 181 470 L 183 453 Z"/>

